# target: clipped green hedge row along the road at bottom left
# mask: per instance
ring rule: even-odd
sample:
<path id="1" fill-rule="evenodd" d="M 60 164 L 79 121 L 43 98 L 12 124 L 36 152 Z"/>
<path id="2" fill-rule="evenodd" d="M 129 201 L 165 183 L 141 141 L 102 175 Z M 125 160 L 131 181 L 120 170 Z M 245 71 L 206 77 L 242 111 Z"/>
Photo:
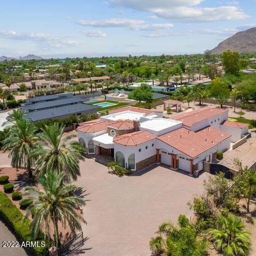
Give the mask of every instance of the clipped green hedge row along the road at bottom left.
<path id="1" fill-rule="evenodd" d="M 5 220 L 7 225 L 14 231 L 21 241 L 38 241 L 40 245 L 44 241 L 44 235 L 39 233 L 35 240 L 31 237 L 31 229 L 29 227 L 30 220 L 27 218 L 22 220 L 23 215 L 20 210 L 12 203 L 7 195 L 0 191 L 0 216 Z M 47 255 L 46 247 L 29 247 L 34 255 Z"/>

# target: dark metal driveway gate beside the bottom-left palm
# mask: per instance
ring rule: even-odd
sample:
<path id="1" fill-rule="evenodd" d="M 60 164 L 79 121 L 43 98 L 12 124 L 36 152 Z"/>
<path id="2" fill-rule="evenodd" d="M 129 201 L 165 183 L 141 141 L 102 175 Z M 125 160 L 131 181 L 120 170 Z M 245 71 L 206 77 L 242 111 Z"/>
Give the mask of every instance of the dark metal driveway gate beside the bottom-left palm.
<path id="1" fill-rule="evenodd" d="M 66 256 L 80 247 L 84 245 L 84 236 L 83 236 L 83 231 L 80 233 L 76 234 L 74 237 L 72 237 L 66 244 L 63 244 L 59 247 L 58 254 L 59 256 Z"/>

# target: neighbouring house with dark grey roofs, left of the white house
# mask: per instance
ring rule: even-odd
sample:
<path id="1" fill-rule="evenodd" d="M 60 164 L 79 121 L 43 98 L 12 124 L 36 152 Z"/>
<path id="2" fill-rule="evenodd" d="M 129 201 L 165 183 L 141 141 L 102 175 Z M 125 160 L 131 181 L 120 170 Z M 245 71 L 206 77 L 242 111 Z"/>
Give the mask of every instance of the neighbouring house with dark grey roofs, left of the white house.
<path id="1" fill-rule="evenodd" d="M 85 104 L 83 98 L 74 97 L 73 93 L 60 93 L 29 98 L 21 109 L 26 111 L 27 119 L 37 122 L 96 113 L 98 106 Z"/>

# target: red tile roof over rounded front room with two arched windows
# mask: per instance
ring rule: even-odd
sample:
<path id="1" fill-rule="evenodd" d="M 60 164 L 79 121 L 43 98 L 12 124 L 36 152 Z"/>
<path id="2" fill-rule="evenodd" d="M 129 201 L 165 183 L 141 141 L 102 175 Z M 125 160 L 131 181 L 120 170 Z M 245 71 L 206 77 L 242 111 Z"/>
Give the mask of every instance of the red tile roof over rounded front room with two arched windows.
<path id="1" fill-rule="evenodd" d="M 118 136 L 113 141 L 124 146 L 137 146 L 155 138 L 155 135 L 148 131 L 138 131 Z"/>

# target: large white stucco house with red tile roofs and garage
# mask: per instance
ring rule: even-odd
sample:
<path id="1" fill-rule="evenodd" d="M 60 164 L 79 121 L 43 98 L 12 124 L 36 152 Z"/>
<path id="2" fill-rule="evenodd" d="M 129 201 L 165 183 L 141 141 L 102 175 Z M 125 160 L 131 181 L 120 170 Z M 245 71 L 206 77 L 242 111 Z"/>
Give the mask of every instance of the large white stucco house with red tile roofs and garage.
<path id="1" fill-rule="evenodd" d="M 228 120 L 228 110 L 200 108 L 162 117 L 156 110 L 124 107 L 79 124 L 78 141 L 89 155 L 110 155 L 132 171 L 155 163 L 194 174 L 204 162 L 214 161 L 217 150 L 230 148 L 248 133 L 248 125 Z"/>

